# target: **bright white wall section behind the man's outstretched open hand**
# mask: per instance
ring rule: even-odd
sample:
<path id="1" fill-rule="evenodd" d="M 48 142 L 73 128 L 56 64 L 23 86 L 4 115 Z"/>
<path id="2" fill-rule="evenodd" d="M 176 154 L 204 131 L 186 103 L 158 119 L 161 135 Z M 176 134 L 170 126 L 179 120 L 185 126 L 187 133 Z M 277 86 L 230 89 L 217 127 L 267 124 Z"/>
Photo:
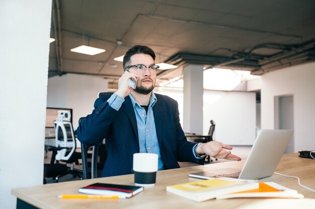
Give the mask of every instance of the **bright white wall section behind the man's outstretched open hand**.
<path id="1" fill-rule="evenodd" d="M 230 145 L 252 145 L 256 138 L 256 93 L 205 90 L 203 133 L 216 123 L 214 139 Z"/>

